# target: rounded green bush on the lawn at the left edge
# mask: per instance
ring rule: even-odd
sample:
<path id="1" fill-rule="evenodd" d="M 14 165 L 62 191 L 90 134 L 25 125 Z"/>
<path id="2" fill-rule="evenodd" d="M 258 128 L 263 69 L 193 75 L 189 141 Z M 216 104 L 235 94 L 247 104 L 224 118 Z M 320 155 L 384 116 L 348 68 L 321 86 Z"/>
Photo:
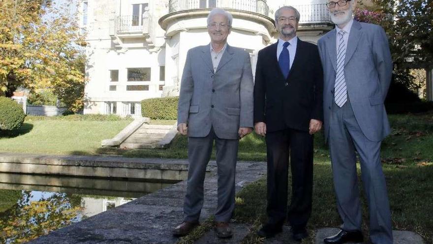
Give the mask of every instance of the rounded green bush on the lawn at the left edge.
<path id="1" fill-rule="evenodd" d="M 10 98 L 0 97 L 0 130 L 15 130 L 24 123 L 26 114 L 21 105 Z"/>

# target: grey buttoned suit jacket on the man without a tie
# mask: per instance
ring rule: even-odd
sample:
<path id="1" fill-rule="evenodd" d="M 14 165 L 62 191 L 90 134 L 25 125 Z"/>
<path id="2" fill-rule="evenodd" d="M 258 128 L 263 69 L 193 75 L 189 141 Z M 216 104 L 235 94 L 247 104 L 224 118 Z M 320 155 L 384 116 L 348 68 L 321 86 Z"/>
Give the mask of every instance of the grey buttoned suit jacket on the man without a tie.
<path id="1" fill-rule="evenodd" d="M 253 79 L 249 54 L 227 45 L 214 73 L 209 45 L 191 48 L 181 81 L 178 124 L 189 137 L 238 139 L 239 127 L 253 127 Z"/>

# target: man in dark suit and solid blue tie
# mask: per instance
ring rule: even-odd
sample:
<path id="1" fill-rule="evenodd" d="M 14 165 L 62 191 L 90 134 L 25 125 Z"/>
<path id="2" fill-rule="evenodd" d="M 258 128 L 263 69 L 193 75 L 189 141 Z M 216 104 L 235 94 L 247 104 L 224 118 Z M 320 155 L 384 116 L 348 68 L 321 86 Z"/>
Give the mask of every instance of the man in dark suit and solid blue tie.
<path id="1" fill-rule="evenodd" d="M 311 213 L 313 134 L 323 120 L 323 72 L 317 46 L 296 36 L 300 14 L 291 6 L 275 12 L 278 42 L 258 53 L 254 129 L 266 136 L 268 222 L 259 236 L 281 232 L 287 217 L 292 237 L 307 237 Z M 292 198 L 287 209 L 289 158 Z"/>

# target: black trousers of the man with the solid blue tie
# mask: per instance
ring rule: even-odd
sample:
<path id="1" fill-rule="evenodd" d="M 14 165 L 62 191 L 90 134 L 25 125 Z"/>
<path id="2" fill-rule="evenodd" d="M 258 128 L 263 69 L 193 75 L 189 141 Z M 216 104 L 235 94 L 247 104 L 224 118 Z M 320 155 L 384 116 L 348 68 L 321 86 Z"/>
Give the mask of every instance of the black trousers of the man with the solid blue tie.
<path id="1" fill-rule="evenodd" d="M 287 216 L 292 228 L 304 228 L 311 214 L 313 136 L 285 129 L 266 134 L 268 158 L 268 222 L 282 225 Z M 289 158 L 292 198 L 287 208 Z"/>

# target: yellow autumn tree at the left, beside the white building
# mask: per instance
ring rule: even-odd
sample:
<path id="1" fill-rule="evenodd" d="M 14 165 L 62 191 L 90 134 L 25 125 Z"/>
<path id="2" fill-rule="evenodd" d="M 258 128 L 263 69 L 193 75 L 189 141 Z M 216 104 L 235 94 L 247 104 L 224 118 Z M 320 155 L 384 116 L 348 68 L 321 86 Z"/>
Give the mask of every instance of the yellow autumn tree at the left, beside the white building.
<path id="1" fill-rule="evenodd" d="M 51 89 L 70 109 L 80 108 L 85 59 L 76 17 L 67 11 L 72 2 L 1 1 L 0 96 L 18 87 Z"/>

